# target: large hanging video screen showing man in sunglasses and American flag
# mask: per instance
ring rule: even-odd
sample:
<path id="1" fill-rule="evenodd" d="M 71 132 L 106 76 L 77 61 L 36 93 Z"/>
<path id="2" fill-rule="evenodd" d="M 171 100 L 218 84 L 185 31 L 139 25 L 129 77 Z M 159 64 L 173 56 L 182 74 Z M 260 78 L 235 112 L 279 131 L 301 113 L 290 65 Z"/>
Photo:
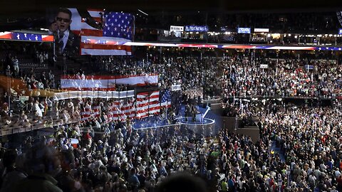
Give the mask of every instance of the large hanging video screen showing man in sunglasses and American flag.
<path id="1" fill-rule="evenodd" d="M 49 9 L 48 32 L 56 39 L 57 55 L 131 55 L 132 14 L 100 9 Z"/>

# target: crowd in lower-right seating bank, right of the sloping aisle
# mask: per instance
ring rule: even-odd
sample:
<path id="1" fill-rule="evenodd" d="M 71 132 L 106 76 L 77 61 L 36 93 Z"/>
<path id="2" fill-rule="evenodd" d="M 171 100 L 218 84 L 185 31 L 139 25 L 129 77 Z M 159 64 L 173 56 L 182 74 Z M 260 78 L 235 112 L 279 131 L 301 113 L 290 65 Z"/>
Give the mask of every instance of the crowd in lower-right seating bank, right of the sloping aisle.
<path id="1" fill-rule="evenodd" d="M 341 110 L 340 103 L 334 107 L 269 105 L 254 110 L 261 117 L 262 134 L 273 137 L 284 153 L 291 186 L 342 191 Z"/>

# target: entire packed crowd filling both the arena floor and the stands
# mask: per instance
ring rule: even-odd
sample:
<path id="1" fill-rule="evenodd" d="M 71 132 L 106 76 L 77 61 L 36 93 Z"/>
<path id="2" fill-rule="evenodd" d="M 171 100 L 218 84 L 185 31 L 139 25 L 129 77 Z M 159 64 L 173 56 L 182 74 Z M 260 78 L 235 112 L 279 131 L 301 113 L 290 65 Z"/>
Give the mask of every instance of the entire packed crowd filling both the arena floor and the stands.
<path id="1" fill-rule="evenodd" d="M 221 89 L 224 97 L 341 95 L 341 67 L 330 61 L 226 56 L 142 62 L 109 57 L 100 62 L 108 73 L 157 72 L 160 87 L 182 82 L 183 90 L 202 88 L 207 95 Z M 259 68 L 261 63 L 267 68 Z M 23 78 L 27 87 L 34 87 L 36 79 L 47 84 L 37 88 L 50 87 L 52 73 L 46 77 L 33 71 L 28 73 L 31 78 Z M 3 129 L 50 128 L 48 137 L 25 137 L 16 150 L 4 143 L 0 191 L 156 191 L 182 171 L 202 178 L 207 191 L 342 191 L 339 102 L 335 107 L 228 104 L 229 116 L 259 118 L 256 143 L 226 129 L 210 137 L 180 126 L 135 130 L 129 117 L 114 118 L 114 103 L 31 97 L 16 117 L 4 105 Z M 175 113 L 168 112 L 170 121 Z M 272 151 L 272 140 L 280 154 Z"/>

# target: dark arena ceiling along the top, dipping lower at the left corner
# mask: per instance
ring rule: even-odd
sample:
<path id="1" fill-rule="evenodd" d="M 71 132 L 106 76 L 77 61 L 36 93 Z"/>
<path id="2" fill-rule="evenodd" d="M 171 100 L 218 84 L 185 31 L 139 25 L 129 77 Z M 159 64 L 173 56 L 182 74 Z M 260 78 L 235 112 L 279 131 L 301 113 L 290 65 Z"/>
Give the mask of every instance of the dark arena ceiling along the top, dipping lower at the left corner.
<path id="1" fill-rule="evenodd" d="M 342 11 L 341 0 L 2 0 L 0 1 L 0 31 L 14 30 L 30 23 L 38 26 L 48 8 L 76 7 L 79 9 L 108 9 L 110 11 L 182 12 L 208 11 L 211 13 L 242 12 L 321 12 Z M 32 24 L 33 23 L 33 24 Z M 28 28 L 30 26 L 27 26 Z"/>

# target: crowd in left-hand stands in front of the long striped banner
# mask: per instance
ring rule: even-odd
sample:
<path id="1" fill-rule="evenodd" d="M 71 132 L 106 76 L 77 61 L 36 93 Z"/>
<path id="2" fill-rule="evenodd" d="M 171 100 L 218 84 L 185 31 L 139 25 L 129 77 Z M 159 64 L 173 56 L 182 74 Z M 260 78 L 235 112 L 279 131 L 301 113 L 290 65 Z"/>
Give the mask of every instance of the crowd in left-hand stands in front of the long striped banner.
<path id="1" fill-rule="evenodd" d="M 120 127 L 121 122 L 132 122 L 133 117 L 140 119 L 135 111 L 135 100 L 73 99 L 53 100 L 53 97 L 29 97 L 25 106 L 10 112 L 7 103 L 1 107 L 1 131 L 16 129 L 38 129 L 60 124 L 73 124 L 78 131 L 90 128 L 93 132 L 111 132 Z M 13 109 L 13 107 L 12 107 Z M 167 124 L 174 124 L 180 109 L 180 102 L 169 109 L 161 107 L 158 117 Z M 129 112 L 130 111 L 130 112 Z M 166 115 L 167 113 L 167 115 Z M 128 127 L 131 129 L 131 126 Z"/>

